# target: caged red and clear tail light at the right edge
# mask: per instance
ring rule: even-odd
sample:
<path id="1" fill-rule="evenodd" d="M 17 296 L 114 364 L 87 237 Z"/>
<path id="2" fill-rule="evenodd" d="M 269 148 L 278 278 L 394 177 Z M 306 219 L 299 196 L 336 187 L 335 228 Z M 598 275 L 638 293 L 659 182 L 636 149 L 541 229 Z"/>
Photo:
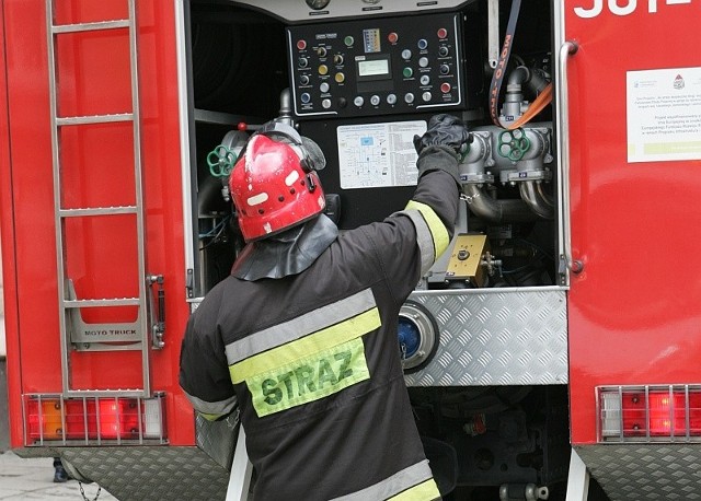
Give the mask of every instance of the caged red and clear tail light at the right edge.
<path id="1" fill-rule="evenodd" d="M 599 438 L 606 442 L 701 440 L 701 386 L 599 387 Z"/>

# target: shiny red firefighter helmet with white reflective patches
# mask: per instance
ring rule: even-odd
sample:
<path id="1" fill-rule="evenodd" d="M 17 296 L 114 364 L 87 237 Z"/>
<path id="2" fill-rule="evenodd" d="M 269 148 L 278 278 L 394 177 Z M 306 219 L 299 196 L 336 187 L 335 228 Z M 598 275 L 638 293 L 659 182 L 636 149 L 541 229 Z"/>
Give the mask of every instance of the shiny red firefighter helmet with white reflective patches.
<path id="1" fill-rule="evenodd" d="M 315 172 L 323 168 L 319 165 L 323 154 L 311 142 L 302 141 L 288 125 L 268 123 L 246 143 L 229 177 L 246 242 L 292 228 L 324 210 L 326 200 Z"/>

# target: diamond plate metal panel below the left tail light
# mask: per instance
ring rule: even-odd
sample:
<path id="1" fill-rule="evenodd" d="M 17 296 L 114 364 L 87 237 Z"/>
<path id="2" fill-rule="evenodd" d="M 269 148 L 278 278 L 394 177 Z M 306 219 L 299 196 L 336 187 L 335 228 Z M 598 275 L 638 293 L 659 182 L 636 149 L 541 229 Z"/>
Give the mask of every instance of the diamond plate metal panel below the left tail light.
<path id="1" fill-rule="evenodd" d="M 197 447 L 61 447 L 61 457 L 117 499 L 223 500 L 229 471 Z"/>

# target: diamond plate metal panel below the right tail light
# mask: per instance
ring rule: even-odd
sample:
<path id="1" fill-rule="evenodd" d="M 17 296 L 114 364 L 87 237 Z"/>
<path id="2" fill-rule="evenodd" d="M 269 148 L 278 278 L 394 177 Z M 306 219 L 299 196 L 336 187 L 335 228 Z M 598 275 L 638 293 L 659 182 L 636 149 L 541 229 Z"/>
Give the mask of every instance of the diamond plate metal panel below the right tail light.
<path id="1" fill-rule="evenodd" d="M 575 450 L 611 501 L 701 500 L 701 444 L 599 444 Z"/>

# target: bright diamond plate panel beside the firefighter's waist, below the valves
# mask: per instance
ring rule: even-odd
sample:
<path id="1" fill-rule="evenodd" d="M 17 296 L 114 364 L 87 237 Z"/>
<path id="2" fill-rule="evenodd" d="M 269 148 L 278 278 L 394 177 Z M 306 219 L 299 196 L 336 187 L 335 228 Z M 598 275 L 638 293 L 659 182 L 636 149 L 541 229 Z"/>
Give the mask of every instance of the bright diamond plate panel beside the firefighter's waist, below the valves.
<path id="1" fill-rule="evenodd" d="M 566 295 L 560 288 L 416 291 L 439 346 L 409 386 L 567 383 Z"/>

